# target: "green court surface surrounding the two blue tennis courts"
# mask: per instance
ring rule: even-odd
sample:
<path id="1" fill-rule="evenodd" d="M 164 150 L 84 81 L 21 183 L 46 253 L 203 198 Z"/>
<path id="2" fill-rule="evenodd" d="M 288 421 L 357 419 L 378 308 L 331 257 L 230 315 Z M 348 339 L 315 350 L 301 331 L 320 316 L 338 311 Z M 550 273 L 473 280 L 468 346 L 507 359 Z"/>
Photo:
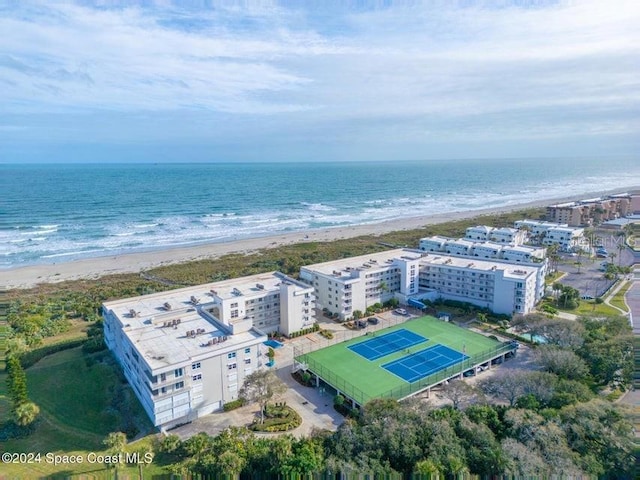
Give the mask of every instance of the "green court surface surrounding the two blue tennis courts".
<path id="1" fill-rule="evenodd" d="M 375 332 L 375 335 L 380 336 L 401 329 L 417 333 L 429 340 L 414 345 L 409 349 L 409 352 L 402 350 L 370 361 L 348 348 L 350 345 L 372 338 L 371 336 L 364 336 L 297 356 L 296 359 L 306 363 L 312 372 L 320 375 L 321 378 L 348 397 L 353 398 L 358 403 L 365 403 L 377 397 L 402 398 L 419 390 L 422 386 L 435 383 L 443 376 L 453 375 L 456 371 L 459 373 L 461 368 L 466 369 L 476 363 L 481 363 L 493 356 L 492 354 L 496 349 L 500 349 L 503 346 L 503 344 L 493 339 L 433 317 L 409 320 L 395 327 L 379 330 Z M 454 365 L 446 369 L 446 371 L 436 372 L 412 384 L 393 375 L 381 366 L 407 356 L 409 353 L 424 350 L 436 344 L 445 345 L 459 352 L 463 352 L 464 345 L 465 353 L 471 359 L 466 360 L 463 365 Z M 503 350 L 506 352 L 509 347 L 503 347 Z"/>

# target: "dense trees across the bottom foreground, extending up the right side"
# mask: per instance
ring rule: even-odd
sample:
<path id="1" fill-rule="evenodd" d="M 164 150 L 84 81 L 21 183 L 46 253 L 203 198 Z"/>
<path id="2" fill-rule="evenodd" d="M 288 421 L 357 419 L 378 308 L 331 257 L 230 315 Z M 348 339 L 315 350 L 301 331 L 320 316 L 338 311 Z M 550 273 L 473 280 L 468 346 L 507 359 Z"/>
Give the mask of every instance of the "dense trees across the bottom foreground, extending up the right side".
<path id="1" fill-rule="evenodd" d="M 535 352 L 543 371 L 504 370 L 477 387 L 450 382 L 439 392 L 448 407 L 379 399 L 336 432 L 170 435 L 157 453 L 174 473 L 216 477 L 634 478 L 628 413 L 599 394 L 630 379 L 628 321 L 530 315 L 513 323 L 547 340 Z"/>

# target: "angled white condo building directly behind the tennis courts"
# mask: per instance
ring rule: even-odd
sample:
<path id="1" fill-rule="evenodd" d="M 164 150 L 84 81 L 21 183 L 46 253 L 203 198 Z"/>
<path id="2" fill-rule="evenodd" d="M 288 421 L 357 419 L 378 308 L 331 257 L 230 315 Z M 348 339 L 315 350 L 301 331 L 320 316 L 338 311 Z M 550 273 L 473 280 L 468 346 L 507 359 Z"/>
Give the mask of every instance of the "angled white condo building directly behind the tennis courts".
<path id="1" fill-rule="evenodd" d="M 470 242 L 473 243 L 473 242 Z M 315 289 L 318 308 L 350 318 L 397 298 L 460 300 L 496 313 L 529 313 L 544 295 L 546 262 L 514 265 L 412 249 L 346 258 L 300 269 Z"/>

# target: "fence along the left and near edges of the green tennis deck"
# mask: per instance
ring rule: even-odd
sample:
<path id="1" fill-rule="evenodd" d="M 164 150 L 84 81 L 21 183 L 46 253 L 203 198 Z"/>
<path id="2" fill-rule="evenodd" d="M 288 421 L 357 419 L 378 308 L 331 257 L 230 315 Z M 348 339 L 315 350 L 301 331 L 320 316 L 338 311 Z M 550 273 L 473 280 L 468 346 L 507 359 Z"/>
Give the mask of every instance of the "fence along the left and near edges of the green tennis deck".
<path id="1" fill-rule="evenodd" d="M 394 400 L 401 400 L 403 398 L 410 397 L 417 393 L 420 393 L 427 388 L 433 387 L 444 380 L 461 375 L 463 372 L 474 368 L 477 365 L 491 361 L 494 358 L 498 358 L 506 353 L 513 352 L 517 348 L 517 342 L 505 342 L 490 350 L 478 353 L 470 356 L 466 360 L 457 362 L 449 367 L 432 373 L 420 380 L 413 383 L 407 383 L 399 387 L 388 390 L 384 393 L 371 395 L 363 392 L 361 389 L 353 385 L 351 382 L 335 374 L 329 367 L 323 365 L 321 362 L 317 362 L 313 358 L 309 357 L 307 353 L 296 352 L 294 348 L 294 368 L 308 370 L 309 372 L 318 376 L 322 381 L 331 385 L 336 390 L 339 390 L 343 395 L 353 400 L 359 405 L 364 405 L 369 400 L 374 398 L 391 398 Z"/>

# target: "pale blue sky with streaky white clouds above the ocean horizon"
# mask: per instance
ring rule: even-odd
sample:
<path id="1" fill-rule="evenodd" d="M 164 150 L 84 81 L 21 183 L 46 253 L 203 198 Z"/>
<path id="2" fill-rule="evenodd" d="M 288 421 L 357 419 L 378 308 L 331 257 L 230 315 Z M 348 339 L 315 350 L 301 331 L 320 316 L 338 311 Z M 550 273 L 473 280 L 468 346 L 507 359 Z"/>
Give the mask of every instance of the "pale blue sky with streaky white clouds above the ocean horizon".
<path id="1" fill-rule="evenodd" d="M 0 0 L 0 162 L 640 152 L 640 2 Z"/>

